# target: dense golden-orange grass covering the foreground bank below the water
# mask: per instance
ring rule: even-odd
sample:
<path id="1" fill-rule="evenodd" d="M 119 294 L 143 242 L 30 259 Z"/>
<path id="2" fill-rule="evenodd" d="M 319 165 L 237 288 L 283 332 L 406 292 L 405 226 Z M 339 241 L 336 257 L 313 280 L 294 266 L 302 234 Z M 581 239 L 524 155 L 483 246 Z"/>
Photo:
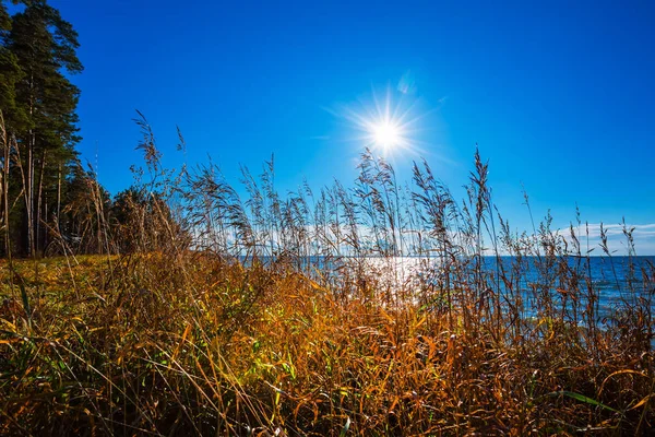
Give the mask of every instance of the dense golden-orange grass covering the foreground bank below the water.
<path id="1" fill-rule="evenodd" d="M 3 435 L 619 435 L 655 421 L 635 315 L 593 332 L 499 323 L 467 290 L 450 308 L 390 305 L 283 262 L 192 252 L 20 261 L 13 277 L 4 262 L 2 283 Z"/>

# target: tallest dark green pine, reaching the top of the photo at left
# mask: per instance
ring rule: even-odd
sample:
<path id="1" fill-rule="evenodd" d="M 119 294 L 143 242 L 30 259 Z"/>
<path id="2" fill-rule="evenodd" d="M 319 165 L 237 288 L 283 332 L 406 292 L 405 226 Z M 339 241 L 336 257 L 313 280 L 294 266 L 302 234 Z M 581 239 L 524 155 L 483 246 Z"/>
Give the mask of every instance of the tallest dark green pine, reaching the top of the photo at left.
<path id="1" fill-rule="evenodd" d="M 80 91 L 64 73 L 79 73 L 82 64 L 75 54 L 78 34 L 59 11 L 46 0 L 21 3 L 25 8 L 12 16 L 4 38 L 20 69 L 13 90 L 16 108 L 12 114 L 16 116 L 8 126 L 17 139 L 24 200 L 21 243 L 34 256 L 46 244 L 43 222 L 61 209 L 55 202 L 61 199 L 66 164 L 75 157 L 74 145 L 80 141 L 75 114 Z"/>

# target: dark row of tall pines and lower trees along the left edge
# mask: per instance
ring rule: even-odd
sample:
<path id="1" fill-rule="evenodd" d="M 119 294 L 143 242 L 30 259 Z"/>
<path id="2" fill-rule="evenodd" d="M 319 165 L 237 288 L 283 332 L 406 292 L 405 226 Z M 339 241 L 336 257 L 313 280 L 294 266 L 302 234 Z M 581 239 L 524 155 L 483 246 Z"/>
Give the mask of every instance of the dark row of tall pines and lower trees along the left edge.
<path id="1" fill-rule="evenodd" d="M 85 168 L 76 114 L 78 33 L 46 0 L 0 1 L 0 255 L 102 249 L 98 218 L 126 216 L 134 189 L 110 199 Z M 98 205 L 103 211 L 98 210 Z"/>

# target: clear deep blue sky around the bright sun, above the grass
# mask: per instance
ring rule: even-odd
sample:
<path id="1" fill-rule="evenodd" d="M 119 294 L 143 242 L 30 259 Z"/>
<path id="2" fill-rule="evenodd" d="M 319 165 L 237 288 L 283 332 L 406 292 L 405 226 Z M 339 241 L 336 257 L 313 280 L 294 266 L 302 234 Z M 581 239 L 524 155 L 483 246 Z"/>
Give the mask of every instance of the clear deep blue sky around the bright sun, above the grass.
<path id="1" fill-rule="evenodd" d="M 140 160 L 134 109 L 168 165 L 210 154 L 237 182 L 274 153 L 283 192 L 348 182 L 362 144 L 344 114 L 389 91 L 456 194 L 478 143 L 512 227 L 528 227 L 523 185 L 536 218 L 626 217 L 655 253 L 652 1 L 51 3 L 80 33 L 80 151 L 111 192 Z M 402 179 L 418 157 L 390 156 Z"/>

